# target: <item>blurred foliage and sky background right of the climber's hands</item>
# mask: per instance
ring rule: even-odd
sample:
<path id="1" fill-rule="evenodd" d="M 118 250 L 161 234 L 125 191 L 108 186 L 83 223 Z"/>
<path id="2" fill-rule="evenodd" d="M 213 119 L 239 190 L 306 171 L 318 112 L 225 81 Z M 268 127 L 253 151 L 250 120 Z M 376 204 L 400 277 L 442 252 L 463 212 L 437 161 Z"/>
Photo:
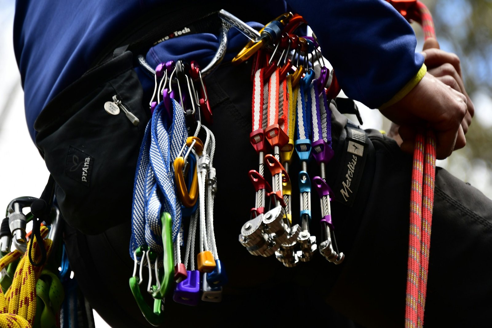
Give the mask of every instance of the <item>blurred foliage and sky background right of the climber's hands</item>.
<path id="1" fill-rule="evenodd" d="M 460 57 L 465 88 L 475 104 L 466 147 L 440 164 L 492 198 L 492 0 L 421 1 L 431 10 L 441 49 Z M 421 40 L 421 29 L 415 30 Z"/>

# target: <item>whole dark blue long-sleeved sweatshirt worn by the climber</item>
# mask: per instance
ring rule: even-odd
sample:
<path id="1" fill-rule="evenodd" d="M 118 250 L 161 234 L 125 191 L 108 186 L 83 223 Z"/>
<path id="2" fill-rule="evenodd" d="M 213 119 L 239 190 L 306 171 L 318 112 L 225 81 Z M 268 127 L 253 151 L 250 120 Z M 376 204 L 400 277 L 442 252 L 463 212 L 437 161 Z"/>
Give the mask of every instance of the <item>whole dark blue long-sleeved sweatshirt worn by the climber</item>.
<path id="1" fill-rule="evenodd" d="M 286 11 L 285 2 L 294 12 L 304 16 L 316 33 L 324 56 L 335 68 L 347 96 L 376 108 L 405 86 L 408 89 L 409 84 L 418 83 L 416 77 L 422 71 L 424 59 L 415 53 L 415 34 L 386 1 L 271 2 L 268 7 L 272 17 Z M 33 140 L 34 121 L 47 103 L 80 78 L 107 42 L 128 22 L 162 3 L 165 1 L 17 1 L 14 50 L 24 88 L 26 120 Z M 248 5 L 259 3 L 261 1 L 253 0 Z M 228 50 L 229 59 L 242 43 L 246 43 L 237 32 L 231 33 L 234 33 L 235 41 Z M 164 46 L 150 60 L 152 66 L 178 58 L 211 58 L 218 40 L 213 34 L 192 34 L 162 44 Z"/>

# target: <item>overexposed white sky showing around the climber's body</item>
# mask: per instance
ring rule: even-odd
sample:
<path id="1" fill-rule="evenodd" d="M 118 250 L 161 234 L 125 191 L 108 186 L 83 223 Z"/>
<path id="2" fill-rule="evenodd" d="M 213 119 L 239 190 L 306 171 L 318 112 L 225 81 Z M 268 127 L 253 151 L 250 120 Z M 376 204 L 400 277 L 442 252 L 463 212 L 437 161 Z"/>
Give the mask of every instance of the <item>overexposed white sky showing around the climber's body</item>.
<path id="1" fill-rule="evenodd" d="M 38 197 L 48 179 L 48 171 L 31 141 L 25 121 L 23 90 L 12 45 L 13 16 L 14 1 L 0 0 L 0 174 L 3 181 L 0 207 L 7 206 L 16 197 Z M 477 92 L 472 98 L 476 106 L 475 121 L 481 120 L 484 126 L 492 127 L 491 97 L 484 92 Z M 387 120 L 378 111 L 358 104 L 365 123 L 363 128 L 389 128 Z M 350 116 L 350 119 L 357 122 L 355 116 Z M 476 160 L 470 165 L 461 154 L 457 158 L 453 165 L 448 165 L 447 161 L 439 161 L 438 165 L 449 169 L 460 179 L 467 179 L 492 198 L 492 175 L 487 164 Z M 470 174 L 471 171 L 474 173 Z M 109 327 L 96 313 L 94 317 L 97 328 Z"/>

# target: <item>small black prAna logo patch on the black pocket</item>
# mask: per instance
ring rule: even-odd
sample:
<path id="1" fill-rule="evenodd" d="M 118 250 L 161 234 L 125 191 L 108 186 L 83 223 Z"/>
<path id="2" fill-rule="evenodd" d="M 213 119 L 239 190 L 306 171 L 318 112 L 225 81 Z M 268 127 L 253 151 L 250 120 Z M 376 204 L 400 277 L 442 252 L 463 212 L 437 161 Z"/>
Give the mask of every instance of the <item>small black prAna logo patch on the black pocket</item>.
<path id="1" fill-rule="evenodd" d="M 94 157 L 80 149 L 70 146 L 66 157 L 65 174 L 85 186 L 91 184 Z"/>

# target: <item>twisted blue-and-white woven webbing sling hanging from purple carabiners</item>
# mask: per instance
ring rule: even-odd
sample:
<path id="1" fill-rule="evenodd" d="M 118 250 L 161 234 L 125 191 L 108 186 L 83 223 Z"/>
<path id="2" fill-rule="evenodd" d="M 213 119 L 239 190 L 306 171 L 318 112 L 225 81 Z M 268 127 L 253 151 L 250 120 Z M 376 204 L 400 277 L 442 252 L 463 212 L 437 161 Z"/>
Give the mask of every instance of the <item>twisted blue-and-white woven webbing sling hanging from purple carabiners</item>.
<path id="1" fill-rule="evenodd" d="M 142 245 L 161 253 L 162 227 L 160 212 L 171 214 L 172 237 L 176 241 L 181 228 L 181 202 L 174 188 L 174 168 L 171 159 L 178 156 L 186 141 L 184 111 L 172 99 L 172 121 L 167 119 L 167 109 L 161 102 L 154 109 L 152 119 L 145 129 L 135 174 L 132 206 L 132 235 L 130 254 Z M 169 109 L 171 110 L 171 109 Z M 159 266 L 162 260 L 159 261 Z"/>

